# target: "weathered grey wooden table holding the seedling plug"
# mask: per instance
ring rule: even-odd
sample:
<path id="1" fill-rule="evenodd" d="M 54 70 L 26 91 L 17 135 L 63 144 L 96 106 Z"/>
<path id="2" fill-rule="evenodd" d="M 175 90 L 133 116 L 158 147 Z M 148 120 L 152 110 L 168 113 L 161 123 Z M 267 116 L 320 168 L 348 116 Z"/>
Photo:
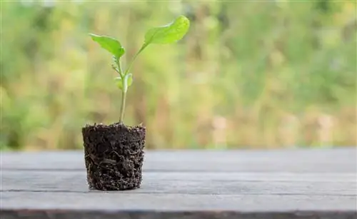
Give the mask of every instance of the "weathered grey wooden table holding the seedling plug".
<path id="1" fill-rule="evenodd" d="M 137 190 L 89 191 L 82 151 L 1 153 L 1 219 L 355 219 L 356 148 L 147 151 Z"/>

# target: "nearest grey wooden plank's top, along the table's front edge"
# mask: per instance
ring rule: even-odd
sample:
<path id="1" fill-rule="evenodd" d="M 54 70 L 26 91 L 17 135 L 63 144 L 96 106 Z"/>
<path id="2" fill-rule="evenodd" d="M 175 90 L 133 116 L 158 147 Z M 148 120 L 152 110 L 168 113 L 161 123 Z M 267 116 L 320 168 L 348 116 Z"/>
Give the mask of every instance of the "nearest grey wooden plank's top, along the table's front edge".
<path id="1" fill-rule="evenodd" d="M 99 210 L 119 211 L 204 211 L 232 210 L 237 213 L 303 211 L 355 211 L 351 195 L 209 195 L 122 192 L 3 192 L 1 208 L 6 210 Z M 1 218 L 3 219 L 3 218 Z"/>

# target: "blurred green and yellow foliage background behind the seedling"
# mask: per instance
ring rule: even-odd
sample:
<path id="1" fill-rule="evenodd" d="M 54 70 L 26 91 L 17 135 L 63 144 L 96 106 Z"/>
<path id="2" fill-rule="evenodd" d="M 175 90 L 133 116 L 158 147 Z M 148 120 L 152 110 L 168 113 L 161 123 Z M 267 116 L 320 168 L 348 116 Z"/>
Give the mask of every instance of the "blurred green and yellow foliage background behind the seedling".
<path id="1" fill-rule="evenodd" d="M 147 148 L 356 146 L 356 1 L 2 1 L 1 150 L 82 148 L 119 120 L 111 55 L 184 14 L 136 60 L 125 123 Z"/>

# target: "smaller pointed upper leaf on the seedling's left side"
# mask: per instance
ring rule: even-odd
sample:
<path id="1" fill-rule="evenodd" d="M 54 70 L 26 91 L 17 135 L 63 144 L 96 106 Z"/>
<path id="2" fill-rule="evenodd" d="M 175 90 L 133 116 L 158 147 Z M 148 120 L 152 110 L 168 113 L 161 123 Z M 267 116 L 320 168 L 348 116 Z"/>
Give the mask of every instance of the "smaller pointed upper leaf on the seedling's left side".
<path id="1" fill-rule="evenodd" d="M 120 58 L 124 55 L 125 49 L 121 46 L 120 42 L 110 36 L 99 36 L 96 34 L 89 34 L 93 41 L 96 41 L 102 48 L 109 51 L 111 54 L 116 56 L 116 58 Z"/>

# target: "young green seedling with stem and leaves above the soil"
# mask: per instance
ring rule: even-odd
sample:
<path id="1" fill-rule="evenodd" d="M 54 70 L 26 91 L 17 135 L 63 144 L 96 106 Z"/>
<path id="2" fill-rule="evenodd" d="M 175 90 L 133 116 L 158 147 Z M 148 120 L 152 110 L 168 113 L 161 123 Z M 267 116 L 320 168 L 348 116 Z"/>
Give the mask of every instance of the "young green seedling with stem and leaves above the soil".
<path id="1" fill-rule="evenodd" d="M 96 41 L 102 48 L 109 51 L 113 56 L 112 68 L 119 73 L 119 76 L 115 78 L 116 86 L 121 90 L 121 108 L 119 123 L 123 123 L 124 110 L 126 102 L 126 92 L 129 86 L 133 82 L 133 75 L 129 73 L 131 66 L 133 65 L 136 57 L 146 49 L 150 44 L 173 44 L 176 41 L 183 38 L 186 35 L 190 21 L 186 16 L 178 16 L 174 21 L 164 26 L 154 27 L 146 31 L 144 36 L 144 42 L 132 58 L 131 62 L 125 70 L 121 66 L 121 57 L 125 54 L 125 49 L 121 43 L 110 36 L 99 36 L 96 34 L 89 34 L 93 41 Z"/>

